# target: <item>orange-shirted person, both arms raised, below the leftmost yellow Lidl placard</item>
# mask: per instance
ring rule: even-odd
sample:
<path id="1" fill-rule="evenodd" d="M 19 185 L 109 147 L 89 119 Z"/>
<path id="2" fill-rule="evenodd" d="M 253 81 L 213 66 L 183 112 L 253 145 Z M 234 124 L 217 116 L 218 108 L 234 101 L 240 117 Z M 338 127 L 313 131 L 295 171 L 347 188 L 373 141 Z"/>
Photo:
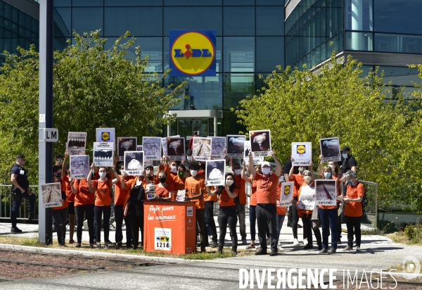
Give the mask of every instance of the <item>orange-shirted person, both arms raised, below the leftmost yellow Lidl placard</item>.
<path id="1" fill-rule="evenodd" d="M 104 248 L 108 248 L 108 235 L 110 233 L 110 215 L 111 215 L 111 198 L 112 192 L 111 187 L 116 182 L 119 182 L 119 175 L 115 170 L 115 166 L 111 165 L 110 175 L 113 175 L 114 179 L 107 179 L 107 168 L 101 167 L 98 169 L 98 175 L 100 179 L 92 180 L 91 176 L 95 170 L 94 163 L 91 165 L 91 171 L 87 177 L 89 187 L 95 190 L 95 222 L 96 222 L 96 241 L 97 248 L 101 248 L 101 217 L 103 217 L 103 229 L 104 229 Z"/>

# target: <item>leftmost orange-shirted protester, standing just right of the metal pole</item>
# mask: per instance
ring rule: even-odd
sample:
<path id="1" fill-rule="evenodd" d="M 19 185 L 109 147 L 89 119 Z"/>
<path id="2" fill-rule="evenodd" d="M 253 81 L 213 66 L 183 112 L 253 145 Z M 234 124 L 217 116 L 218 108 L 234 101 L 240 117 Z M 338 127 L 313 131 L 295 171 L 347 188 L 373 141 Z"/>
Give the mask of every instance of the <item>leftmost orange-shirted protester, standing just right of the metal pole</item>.
<path id="1" fill-rule="evenodd" d="M 61 202 L 62 206 L 53 208 L 53 217 L 57 223 L 57 239 L 59 246 L 65 246 L 66 239 L 66 223 L 68 222 L 68 201 L 66 200 L 66 184 L 63 182 L 62 168 L 60 166 L 53 166 L 53 182 L 60 182 Z"/>

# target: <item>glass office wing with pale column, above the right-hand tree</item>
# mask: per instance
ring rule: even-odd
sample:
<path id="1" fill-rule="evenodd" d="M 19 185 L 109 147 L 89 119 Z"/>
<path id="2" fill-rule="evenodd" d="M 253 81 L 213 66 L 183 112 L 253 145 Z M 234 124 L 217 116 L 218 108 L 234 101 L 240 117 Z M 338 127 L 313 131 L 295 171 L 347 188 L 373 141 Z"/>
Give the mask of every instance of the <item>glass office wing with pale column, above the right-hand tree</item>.
<path id="1" fill-rule="evenodd" d="M 364 73 L 379 66 L 392 95 L 420 83 L 409 64 L 422 63 L 422 1 L 288 0 L 286 1 L 286 65 L 319 65 L 335 50 L 352 55 Z"/>

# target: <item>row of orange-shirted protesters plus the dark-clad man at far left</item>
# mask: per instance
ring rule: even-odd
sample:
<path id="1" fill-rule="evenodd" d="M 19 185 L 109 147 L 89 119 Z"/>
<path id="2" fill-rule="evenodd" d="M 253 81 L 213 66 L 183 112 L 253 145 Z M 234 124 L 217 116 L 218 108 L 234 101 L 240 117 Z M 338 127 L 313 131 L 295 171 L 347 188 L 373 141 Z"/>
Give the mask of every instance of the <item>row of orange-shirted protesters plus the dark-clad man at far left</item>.
<path id="1" fill-rule="evenodd" d="M 123 242 L 122 225 L 125 225 L 127 248 L 143 248 L 143 201 L 146 200 L 146 187 L 153 184 L 157 198 L 160 201 L 174 201 L 175 193 L 186 190 L 185 201 L 191 201 L 196 206 L 196 222 L 198 232 L 198 247 L 206 251 L 207 246 L 223 251 L 227 227 L 231 237 L 231 251 L 237 253 L 239 226 L 241 244 L 248 245 L 245 226 L 245 205 L 247 203 L 246 184 L 250 183 L 250 244 L 246 248 L 257 248 L 256 255 L 276 256 L 284 251 L 279 241 L 281 227 L 286 217 L 287 209 L 280 206 L 282 182 L 294 182 L 293 202 L 288 207 L 288 227 L 292 228 L 293 246 L 300 246 L 298 241 L 299 218 L 303 225 L 303 248 L 313 250 L 313 237 L 321 254 L 333 254 L 341 244 L 341 223 L 347 226 L 347 246 L 343 251 L 353 250 L 355 241 L 356 251 L 361 246 L 362 198 L 364 187 L 357 179 L 357 163 L 350 154 L 349 147 L 343 147 L 343 162 L 329 162 L 324 165 L 324 156 L 320 156 L 319 175 L 321 179 L 337 180 L 336 206 L 315 206 L 313 210 L 298 209 L 301 194 L 315 196 L 315 178 L 312 163 L 309 167 L 292 166 L 292 159 L 288 159 L 284 166 L 276 158 L 274 151 L 271 157 L 276 164 L 263 161 L 259 165 L 247 166 L 243 162 L 231 163 L 233 173 L 226 173 L 223 186 L 208 186 L 205 181 L 205 162 L 197 162 L 192 158 L 192 150 L 187 151 L 187 160 L 177 163 L 163 156 L 154 175 L 152 165 L 146 166 L 139 176 L 128 176 L 123 163 L 117 163 L 110 168 L 96 168 L 94 163 L 86 179 L 70 178 L 70 168 L 65 157 L 56 156 L 53 166 L 53 182 L 60 182 L 62 192 L 62 206 L 53 208 L 53 218 L 56 223 L 58 244 L 65 246 L 66 225 L 69 221 L 70 237 L 68 244 L 82 246 L 82 227 L 87 220 L 89 231 L 89 246 L 91 248 L 121 248 Z M 249 153 L 248 164 L 253 164 L 252 153 Z M 228 158 L 226 158 L 228 160 Z M 19 155 L 11 169 L 13 184 L 13 205 L 11 211 L 11 232 L 22 232 L 16 225 L 16 212 L 22 198 L 29 200 L 29 219 L 34 218 L 34 194 L 29 189 L 27 171 L 23 168 L 25 156 Z M 113 190 L 114 188 L 114 190 Z M 114 191 L 114 196 L 113 196 Z M 219 204 L 217 222 L 214 220 L 214 204 Z M 109 223 L 114 204 L 115 243 L 110 241 Z M 73 240 L 76 220 L 77 240 Z M 322 235 L 319 230 L 322 227 Z M 103 228 L 103 231 L 101 231 Z M 257 230 L 256 230 L 257 228 Z M 210 241 L 208 241 L 208 230 Z M 103 239 L 101 239 L 103 232 Z M 141 239 L 139 239 L 141 232 Z M 219 236 L 218 236 L 219 235 Z M 331 235 L 331 247 L 328 239 Z M 257 236 L 257 237 L 256 237 Z M 255 241 L 259 241 L 259 246 Z M 103 241 L 103 245 L 101 244 Z M 96 245 L 95 245 L 96 244 Z"/>

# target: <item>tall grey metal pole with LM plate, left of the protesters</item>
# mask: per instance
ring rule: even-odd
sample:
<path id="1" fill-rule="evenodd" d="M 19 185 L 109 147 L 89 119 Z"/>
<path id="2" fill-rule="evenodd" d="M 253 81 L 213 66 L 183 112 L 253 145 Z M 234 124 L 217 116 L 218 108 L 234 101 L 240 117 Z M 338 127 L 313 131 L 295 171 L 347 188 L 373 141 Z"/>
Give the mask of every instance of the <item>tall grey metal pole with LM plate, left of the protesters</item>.
<path id="1" fill-rule="evenodd" d="M 54 1 L 39 1 L 39 129 L 53 128 L 53 15 Z M 39 130 L 39 184 L 53 182 L 53 143 L 44 142 Z M 39 192 L 40 194 L 41 192 Z M 52 208 L 44 209 L 38 199 L 38 239 L 53 242 Z"/>

